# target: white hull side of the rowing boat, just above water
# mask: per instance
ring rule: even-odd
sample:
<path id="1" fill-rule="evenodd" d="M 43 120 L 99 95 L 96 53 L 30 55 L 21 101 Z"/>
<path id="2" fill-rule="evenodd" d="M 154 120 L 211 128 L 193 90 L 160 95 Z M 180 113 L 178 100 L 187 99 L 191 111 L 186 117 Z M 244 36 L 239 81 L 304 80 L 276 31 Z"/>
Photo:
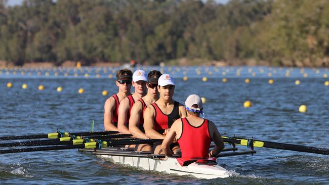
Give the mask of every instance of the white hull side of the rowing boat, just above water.
<path id="1" fill-rule="evenodd" d="M 145 170 L 175 173 L 178 175 L 192 175 L 196 178 L 225 178 L 229 177 L 228 171 L 217 164 L 191 163 L 188 166 L 181 166 L 176 158 L 152 159 L 145 157 L 97 155 L 106 161 L 130 165 Z"/>

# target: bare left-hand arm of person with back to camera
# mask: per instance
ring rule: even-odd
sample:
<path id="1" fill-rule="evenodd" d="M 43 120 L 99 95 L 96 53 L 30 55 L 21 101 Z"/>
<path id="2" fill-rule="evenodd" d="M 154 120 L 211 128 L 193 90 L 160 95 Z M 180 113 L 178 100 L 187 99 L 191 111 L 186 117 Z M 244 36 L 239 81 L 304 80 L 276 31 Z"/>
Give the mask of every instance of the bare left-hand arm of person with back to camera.
<path id="1" fill-rule="evenodd" d="M 175 137 L 177 135 L 177 132 L 179 131 L 179 126 L 181 126 L 181 119 L 176 120 L 172 127 L 169 129 L 168 133 L 166 134 L 165 139 L 163 140 L 161 144 L 162 151 L 165 152 L 165 155 L 168 157 L 172 157 L 173 153 L 170 150 L 170 145 L 175 140 Z"/>

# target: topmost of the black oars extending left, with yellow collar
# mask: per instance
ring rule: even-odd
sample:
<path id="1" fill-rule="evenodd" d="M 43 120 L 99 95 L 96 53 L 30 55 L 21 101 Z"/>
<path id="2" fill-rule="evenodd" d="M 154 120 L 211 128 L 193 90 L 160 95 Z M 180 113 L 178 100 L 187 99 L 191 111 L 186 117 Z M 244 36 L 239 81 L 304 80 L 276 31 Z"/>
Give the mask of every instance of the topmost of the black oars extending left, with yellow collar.
<path id="1" fill-rule="evenodd" d="M 60 137 L 68 137 L 70 135 L 75 136 L 87 136 L 87 135 L 106 135 L 106 134 L 114 134 L 118 133 L 117 131 L 98 131 L 98 132 L 55 132 L 55 133 L 47 133 L 47 134 L 33 134 L 33 135 L 18 135 L 18 136 L 2 136 L 0 137 L 0 141 L 4 140 L 29 140 L 34 138 L 60 138 Z"/>

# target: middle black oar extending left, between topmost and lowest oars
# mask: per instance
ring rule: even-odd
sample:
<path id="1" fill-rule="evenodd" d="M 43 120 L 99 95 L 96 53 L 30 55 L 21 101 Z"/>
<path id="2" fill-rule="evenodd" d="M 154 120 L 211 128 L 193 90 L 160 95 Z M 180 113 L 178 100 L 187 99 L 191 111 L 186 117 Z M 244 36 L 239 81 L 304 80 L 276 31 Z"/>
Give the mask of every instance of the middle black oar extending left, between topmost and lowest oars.
<path id="1" fill-rule="evenodd" d="M 26 141 L 26 142 L 13 142 L 13 143 L 0 143 L 0 147 L 26 147 L 26 146 L 47 146 L 47 145 L 73 145 L 74 142 L 79 142 L 81 139 L 110 139 L 110 138 L 125 138 L 131 136 L 131 134 L 111 134 L 111 135 L 91 135 L 88 137 L 76 136 L 75 140 L 72 137 L 61 137 L 51 140 L 38 140 L 38 141 Z M 86 143 L 85 141 L 84 143 Z M 83 144 L 83 143 L 81 143 Z"/>

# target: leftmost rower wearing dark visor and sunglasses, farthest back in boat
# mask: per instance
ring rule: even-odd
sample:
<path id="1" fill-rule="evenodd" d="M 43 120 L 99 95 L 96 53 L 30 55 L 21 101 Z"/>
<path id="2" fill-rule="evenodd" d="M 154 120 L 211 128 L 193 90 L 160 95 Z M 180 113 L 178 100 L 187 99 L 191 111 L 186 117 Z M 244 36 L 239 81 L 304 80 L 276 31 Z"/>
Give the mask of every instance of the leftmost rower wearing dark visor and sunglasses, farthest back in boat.
<path id="1" fill-rule="evenodd" d="M 133 72 L 129 69 L 121 69 L 116 73 L 115 84 L 118 87 L 117 94 L 112 95 L 104 104 L 104 129 L 108 131 L 118 131 L 118 108 L 120 102 L 131 95 Z"/>

